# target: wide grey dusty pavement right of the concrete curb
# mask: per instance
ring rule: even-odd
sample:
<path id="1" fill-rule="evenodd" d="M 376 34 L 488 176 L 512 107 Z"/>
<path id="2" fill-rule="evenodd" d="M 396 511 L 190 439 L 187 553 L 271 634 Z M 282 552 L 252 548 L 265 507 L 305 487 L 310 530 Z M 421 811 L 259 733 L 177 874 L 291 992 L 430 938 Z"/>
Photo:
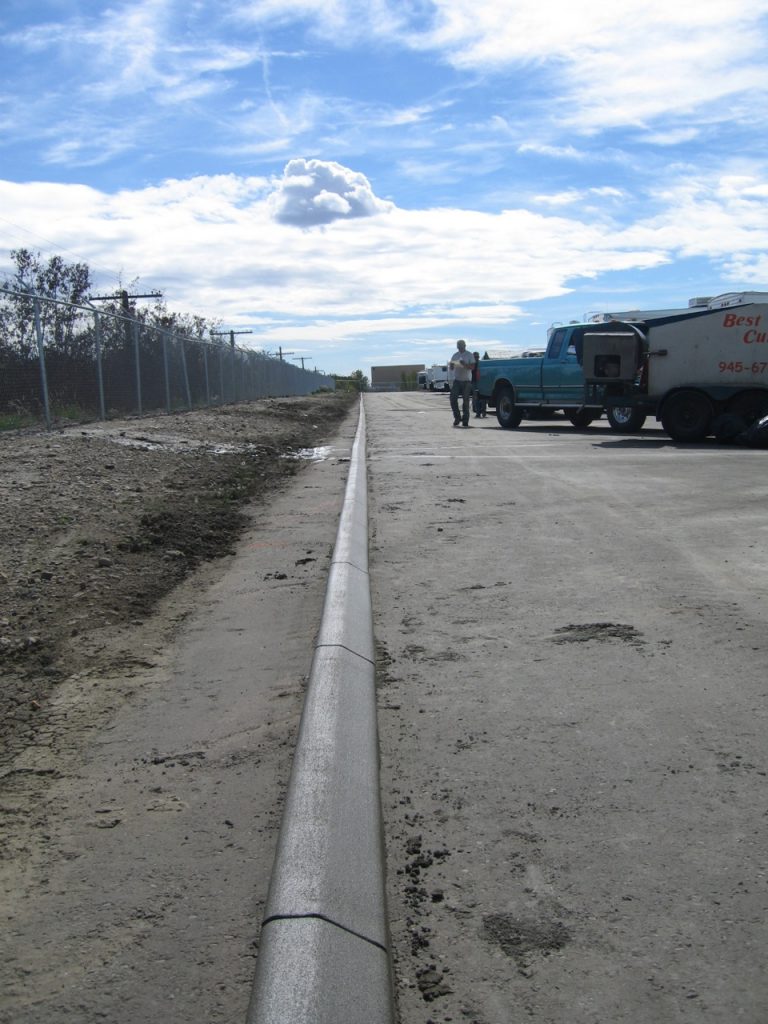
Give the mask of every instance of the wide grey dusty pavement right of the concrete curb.
<path id="1" fill-rule="evenodd" d="M 402 1024 L 764 1024 L 768 453 L 365 402 Z"/>

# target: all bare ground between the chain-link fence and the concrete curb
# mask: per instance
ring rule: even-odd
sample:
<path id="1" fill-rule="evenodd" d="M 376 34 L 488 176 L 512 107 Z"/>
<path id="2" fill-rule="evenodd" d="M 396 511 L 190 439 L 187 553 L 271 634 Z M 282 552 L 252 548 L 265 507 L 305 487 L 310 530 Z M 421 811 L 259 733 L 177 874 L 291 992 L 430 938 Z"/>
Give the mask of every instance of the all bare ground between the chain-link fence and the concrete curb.
<path id="1" fill-rule="evenodd" d="M 6 659 L 3 1024 L 245 1020 L 356 423 L 324 397 L 38 438 L 69 472 L 29 482 L 88 522 L 14 605 L 48 617 Z"/>

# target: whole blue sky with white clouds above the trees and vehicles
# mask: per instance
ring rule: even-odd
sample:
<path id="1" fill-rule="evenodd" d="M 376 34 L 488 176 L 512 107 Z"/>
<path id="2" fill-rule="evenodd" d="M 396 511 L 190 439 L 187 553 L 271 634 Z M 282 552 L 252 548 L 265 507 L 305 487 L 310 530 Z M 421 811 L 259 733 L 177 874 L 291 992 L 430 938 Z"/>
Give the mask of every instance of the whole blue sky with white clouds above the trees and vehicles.
<path id="1" fill-rule="evenodd" d="M 10 252 L 323 373 L 768 291 L 768 0 L 2 0 Z"/>

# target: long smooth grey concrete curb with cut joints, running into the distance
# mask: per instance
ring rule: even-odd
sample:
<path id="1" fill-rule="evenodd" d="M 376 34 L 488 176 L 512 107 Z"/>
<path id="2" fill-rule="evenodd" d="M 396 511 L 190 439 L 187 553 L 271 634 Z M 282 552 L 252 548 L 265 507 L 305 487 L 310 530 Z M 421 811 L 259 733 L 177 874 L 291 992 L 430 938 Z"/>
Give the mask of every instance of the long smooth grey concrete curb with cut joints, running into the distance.
<path id="1" fill-rule="evenodd" d="M 392 1024 L 360 398 L 248 1024 Z"/>

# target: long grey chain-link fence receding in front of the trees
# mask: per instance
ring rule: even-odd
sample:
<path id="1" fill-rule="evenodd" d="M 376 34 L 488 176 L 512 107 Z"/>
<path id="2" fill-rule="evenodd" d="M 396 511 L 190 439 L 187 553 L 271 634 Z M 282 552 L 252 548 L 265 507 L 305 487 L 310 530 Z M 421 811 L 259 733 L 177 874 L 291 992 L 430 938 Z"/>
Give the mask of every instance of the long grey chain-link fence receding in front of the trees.
<path id="1" fill-rule="evenodd" d="M 0 286 L 0 425 L 106 420 L 334 390 L 224 339 Z"/>

